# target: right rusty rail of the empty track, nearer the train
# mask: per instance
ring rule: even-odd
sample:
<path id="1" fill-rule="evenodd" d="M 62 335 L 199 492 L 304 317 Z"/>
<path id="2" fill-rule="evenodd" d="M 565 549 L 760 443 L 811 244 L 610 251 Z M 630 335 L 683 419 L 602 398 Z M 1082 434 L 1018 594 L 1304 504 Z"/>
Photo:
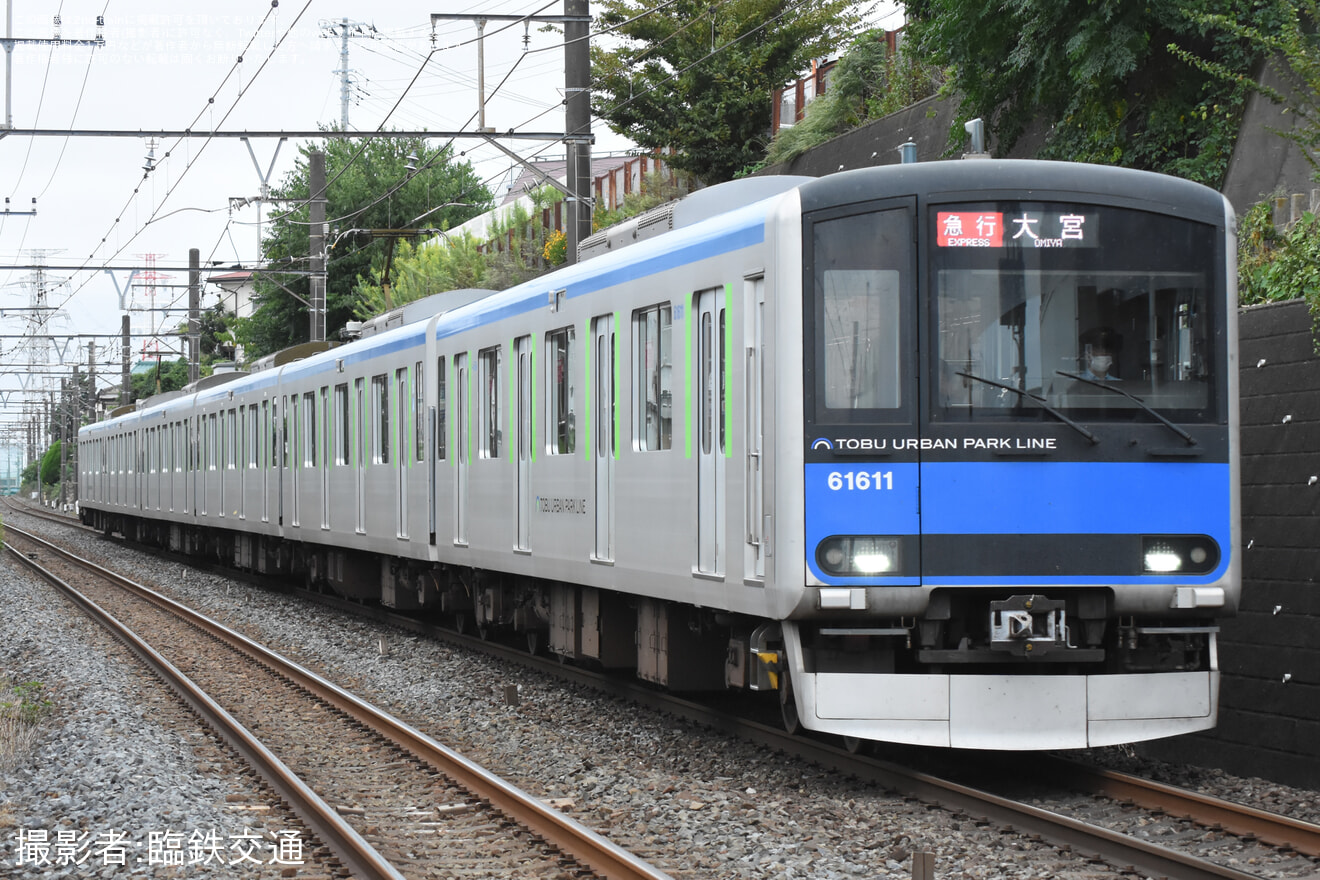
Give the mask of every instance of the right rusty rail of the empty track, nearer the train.
<path id="1" fill-rule="evenodd" d="M 197 628 L 215 636 L 244 654 L 261 662 L 289 681 L 326 701 L 339 711 L 366 724 L 400 748 L 416 755 L 437 770 L 469 789 L 474 796 L 487 801 L 496 810 L 510 817 L 536 836 L 546 840 L 572 856 L 579 864 L 609 880 L 669 880 L 669 875 L 639 859 L 623 847 L 601 836 L 577 819 L 560 813 L 552 806 L 511 785 L 479 764 L 467 760 L 458 752 L 437 743 L 421 731 L 408 726 L 388 712 L 354 697 L 334 682 L 304 669 L 281 654 L 256 644 L 228 627 L 164 596 L 149 587 L 136 583 L 95 562 L 83 559 L 54 544 L 42 541 L 20 529 L 32 541 L 48 546 L 70 562 L 95 571 L 114 581 L 141 598 L 180 615 Z"/>

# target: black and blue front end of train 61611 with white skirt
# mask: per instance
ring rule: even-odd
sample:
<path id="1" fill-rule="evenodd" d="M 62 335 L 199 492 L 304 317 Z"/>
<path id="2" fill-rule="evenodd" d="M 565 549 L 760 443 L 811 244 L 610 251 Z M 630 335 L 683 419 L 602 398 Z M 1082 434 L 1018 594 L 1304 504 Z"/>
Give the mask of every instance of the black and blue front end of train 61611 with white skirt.
<path id="1" fill-rule="evenodd" d="M 800 722 L 990 749 L 1212 727 L 1241 587 L 1232 210 L 1123 169 L 886 170 L 801 195 L 776 563 L 803 563 Z"/>

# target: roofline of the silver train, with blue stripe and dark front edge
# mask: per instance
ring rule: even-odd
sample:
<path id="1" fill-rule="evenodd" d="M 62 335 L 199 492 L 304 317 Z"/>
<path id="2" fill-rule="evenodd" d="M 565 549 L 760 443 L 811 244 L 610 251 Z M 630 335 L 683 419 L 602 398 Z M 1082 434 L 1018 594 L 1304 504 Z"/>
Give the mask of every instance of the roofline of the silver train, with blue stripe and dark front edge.
<path id="1" fill-rule="evenodd" d="M 230 392 L 260 391 L 282 379 L 339 372 L 363 360 L 393 351 L 416 347 L 425 340 L 429 322 L 440 314 L 434 334 L 445 339 L 487 323 L 544 309 L 558 293 L 573 299 L 605 288 L 663 272 L 676 265 L 694 263 L 738 251 L 764 239 L 766 216 L 771 204 L 789 190 L 796 190 L 804 212 L 855 204 L 884 198 L 920 195 L 940 201 L 1030 199 L 1032 193 L 1074 193 L 1133 207 L 1160 210 L 1205 223 L 1222 224 L 1224 197 L 1210 187 L 1181 178 L 1133 169 L 1053 162 L 1040 160 L 952 160 L 884 165 L 840 172 L 821 178 L 785 177 L 735 181 L 731 185 L 698 190 L 672 208 L 677 218 L 673 228 L 655 237 L 635 236 L 626 248 L 607 248 L 599 256 L 565 267 L 531 281 L 467 301 L 449 310 L 445 294 L 429 297 L 433 309 L 413 323 L 380 330 L 375 335 L 335 348 L 309 354 L 279 368 L 238 373 L 222 387 L 197 388 L 183 396 L 189 405 L 205 405 L 227 397 Z M 766 183 L 766 179 L 774 182 Z M 684 207 L 684 203 L 688 203 Z M 750 203 L 747 203 L 750 202 Z M 727 210 L 730 203 L 742 204 Z M 725 210 L 721 210 L 725 208 Z M 462 299 L 471 299 L 462 297 Z M 417 310 L 409 317 L 416 317 Z M 144 401 L 145 406 L 114 420 L 131 421 L 173 408 L 180 398 L 161 397 Z"/>

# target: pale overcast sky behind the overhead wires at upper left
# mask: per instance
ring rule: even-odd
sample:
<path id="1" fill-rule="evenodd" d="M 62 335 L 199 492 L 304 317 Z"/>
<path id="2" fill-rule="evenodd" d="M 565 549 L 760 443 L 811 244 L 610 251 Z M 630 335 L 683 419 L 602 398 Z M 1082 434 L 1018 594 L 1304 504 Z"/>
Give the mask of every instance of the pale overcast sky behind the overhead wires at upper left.
<path id="1" fill-rule="evenodd" d="M 206 137 L 209 131 L 313 131 L 341 119 L 339 24 L 347 18 L 352 71 L 348 128 L 471 131 L 477 112 L 477 26 L 437 22 L 430 13 L 561 15 L 562 0 L 4 0 L 13 4 L 13 133 L 0 137 L 0 442 L 21 420 L 50 361 L 87 361 L 96 340 L 99 372 L 117 377 L 119 327 L 127 305 L 133 332 L 174 326 L 186 305 L 189 248 L 203 265 L 257 256 L 259 208 L 231 207 L 255 197 L 260 174 L 277 183 L 293 168 L 300 140 Z M 891 7 L 892 4 L 884 4 Z M 58 13 L 58 34 L 54 16 Z M 104 24 L 98 28 L 98 16 Z M 895 26 L 895 16 L 886 21 Z M 360 28 L 358 25 L 362 25 Z M 3 22 L 0 22 L 3 26 Z M 73 41 L 104 38 L 103 46 Z M 562 129 L 564 47 L 560 33 L 504 22 L 486 28 L 487 125 L 496 131 Z M 512 73 L 511 73 L 512 71 Z M 504 80 L 499 87 L 496 86 Z M 768 100 L 768 96 L 767 96 Z M 189 139 L 29 137 L 22 129 L 187 129 Z M 603 124 L 595 152 L 626 149 Z M 433 140 L 433 146 L 444 145 Z M 557 142 L 506 141 L 523 156 L 562 154 Z M 248 149 L 251 145 L 251 153 Z M 478 174 L 498 190 L 511 161 L 488 145 L 458 141 Z M 150 156 L 150 158 L 148 158 Z M 255 160 L 253 160 L 255 157 Z M 144 166 L 152 172 L 145 173 Z M 260 170 L 259 170 L 260 169 Z M 33 203 L 36 199 L 36 203 Z M 24 214 L 36 210 L 36 215 Z M 260 216 L 269 215 L 269 207 Z M 15 336 L 32 330 L 36 274 L 45 273 L 48 327 L 57 339 L 36 356 Z M 129 289 L 128 270 L 149 267 Z M 213 305 L 213 292 L 203 306 Z M 153 310 L 154 309 L 154 310 Z M 144 342 L 135 340 L 141 355 Z M 148 348 L 150 346 L 148 344 Z M 30 365 L 38 364 L 36 369 Z M 32 373 L 32 375 L 29 375 Z M 67 373 L 67 369 L 66 369 Z M 58 385 L 58 380 L 55 380 Z"/>

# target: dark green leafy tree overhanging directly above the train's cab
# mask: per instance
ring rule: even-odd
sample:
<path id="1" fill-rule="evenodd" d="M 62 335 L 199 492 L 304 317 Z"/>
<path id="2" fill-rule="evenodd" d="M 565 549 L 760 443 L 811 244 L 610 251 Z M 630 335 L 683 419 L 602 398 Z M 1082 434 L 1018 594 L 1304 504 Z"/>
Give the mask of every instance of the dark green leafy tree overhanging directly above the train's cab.
<path id="1" fill-rule="evenodd" d="M 1250 41 L 1208 26 L 1218 13 L 1272 32 L 1259 0 L 906 0 L 908 38 L 949 70 L 960 123 L 986 119 L 997 152 L 1032 121 L 1039 156 L 1126 165 L 1218 186 L 1249 91 L 1185 63 L 1171 42 L 1249 77 Z M 956 127 L 961 133 L 961 124 Z"/>

